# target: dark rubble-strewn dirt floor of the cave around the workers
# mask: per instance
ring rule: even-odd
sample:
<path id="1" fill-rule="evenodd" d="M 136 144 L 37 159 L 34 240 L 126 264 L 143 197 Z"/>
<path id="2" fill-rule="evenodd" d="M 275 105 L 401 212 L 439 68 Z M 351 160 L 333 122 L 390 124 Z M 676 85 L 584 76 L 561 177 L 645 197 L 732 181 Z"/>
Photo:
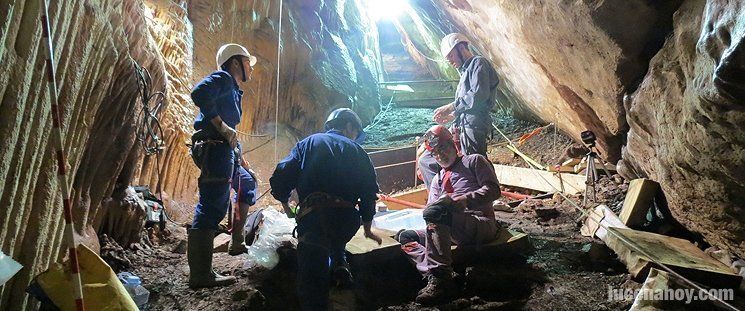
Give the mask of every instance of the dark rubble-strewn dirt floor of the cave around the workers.
<path id="1" fill-rule="evenodd" d="M 415 124 L 413 120 L 417 118 L 413 116 L 431 113 L 431 110 L 408 110 L 409 115 L 401 119 L 375 125 L 370 131 L 374 141 L 395 144 L 409 139 L 387 141 L 378 137 L 408 134 L 408 131 L 394 130 L 396 122 L 409 122 L 411 129 L 417 131 L 426 129 L 427 124 Z M 499 115 L 495 120 L 502 124 L 500 127 L 510 139 L 540 126 Z M 500 145 L 502 141 L 492 141 L 490 159 L 495 163 L 526 166 Z M 556 161 L 569 144 L 569 139 L 548 128 L 526 141 L 520 149 L 536 161 L 548 164 Z M 598 203 L 618 210 L 626 189 L 627 184 L 604 178 L 599 186 Z M 570 199 L 581 202 L 580 196 Z M 467 264 L 456 263 L 463 291 L 449 304 L 424 308 L 413 302 L 424 281 L 402 254 L 378 258 L 376 262 L 352 260 L 357 288 L 353 292 L 334 291 L 332 300 L 337 306 L 353 305 L 358 310 L 628 309 L 632 301 L 609 300 L 608 289 L 635 289 L 641 285 L 629 279 L 626 268 L 604 245 L 580 235 L 580 216 L 570 201 L 558 195 L 527 200 L 509 212 L 497 212 L 503 226 L 528 234 L 532 250 L 485 256 L 488 259 Z M 237 276 L 238 282 L 224 288 L 191 290 L 186 285 L 186 229 L 169 224 L 162 232 L 150 229 L 148 236 L 146 242 L 127 250 L 104 238 L 102 257 L 116 272 L 131 271 L 142 278 L 144 286 L 150 290 L 149 310 L 298 309 L 294 288 L 296 258 L 290 248 L 280 249 L 280 264 L 271 271 L 245 269 L 245 254 L 217 253 L 215 269 Z"/>

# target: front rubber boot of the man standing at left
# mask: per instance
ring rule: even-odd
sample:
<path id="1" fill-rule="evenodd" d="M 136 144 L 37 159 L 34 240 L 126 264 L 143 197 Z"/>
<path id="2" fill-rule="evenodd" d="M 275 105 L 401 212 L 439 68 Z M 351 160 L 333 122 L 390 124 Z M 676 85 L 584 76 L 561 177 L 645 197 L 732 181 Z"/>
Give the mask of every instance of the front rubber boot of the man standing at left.
<path id="1" fill-rule="evenodd" d="M 236 282 L 234 276 L 222 276 L 212 270 L 212 243 L 215 230 L 189 229 L 187 259 L 189 287 L 226 286 Z"/>

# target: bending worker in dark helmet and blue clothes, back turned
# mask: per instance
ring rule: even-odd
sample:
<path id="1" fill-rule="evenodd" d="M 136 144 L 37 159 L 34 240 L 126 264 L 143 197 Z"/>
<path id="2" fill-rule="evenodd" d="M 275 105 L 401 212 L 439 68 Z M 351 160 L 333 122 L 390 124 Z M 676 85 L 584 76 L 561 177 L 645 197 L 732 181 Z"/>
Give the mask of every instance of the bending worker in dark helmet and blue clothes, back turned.
<path id="1" fill-rule="evenodd" d="M 362 122 L 348 108 L 334 110 L 326 133 L 311 135 L 295 145 L 271 179 L 272 195 L 292 217 L 288 200 L 297 190 L 298 297 L 303 310 L 326 310 L 331 282 L 352 284 L 344 252 L 360 227 L 378 244 L 371 231 L 378 183 L 370 157 L 360 144 Z M 359 210 L 355 208 L 359 206 Z"/>

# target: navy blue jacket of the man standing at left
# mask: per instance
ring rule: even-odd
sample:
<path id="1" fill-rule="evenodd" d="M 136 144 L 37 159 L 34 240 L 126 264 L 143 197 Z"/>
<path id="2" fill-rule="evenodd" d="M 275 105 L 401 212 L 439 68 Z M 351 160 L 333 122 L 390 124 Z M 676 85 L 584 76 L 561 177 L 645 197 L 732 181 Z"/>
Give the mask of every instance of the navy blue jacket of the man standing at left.
<path id="1" fill-rule="evenodd" d="M 229 73 L 218 70 L 205 77 L 191 91 L 191 99 L 199 107 L 194 129 L 204 129 L 218 115 L 225 124 L 235 128 L 241 121 L 242 97 L 243 91 Z"/>

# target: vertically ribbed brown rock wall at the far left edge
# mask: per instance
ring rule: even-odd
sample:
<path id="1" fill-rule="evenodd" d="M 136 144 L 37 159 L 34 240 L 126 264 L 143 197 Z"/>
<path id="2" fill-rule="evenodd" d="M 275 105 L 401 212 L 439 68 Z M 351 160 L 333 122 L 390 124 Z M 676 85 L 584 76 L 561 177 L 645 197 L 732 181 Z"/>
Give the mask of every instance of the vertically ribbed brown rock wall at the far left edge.
<path id="1" fill-rule="evenodd" d="M 156 47 L 143 39 L 141 6 L 140 1 L 50 6 L 75 228 L 87 244 L 97 244 L 91 227 L 96 204 L 113 189 L 134 146 L 132 59 L 154 73 L 154 83 L 163 81 Z M 39 1 L 0 1 L 0 17 L 0 243 L 24 266 L 2 287 L 0 305 L 16 310 L 30 307 L 24 290 L 31 278 L 61 258 L 64 221 L 49 140 Z"/>

